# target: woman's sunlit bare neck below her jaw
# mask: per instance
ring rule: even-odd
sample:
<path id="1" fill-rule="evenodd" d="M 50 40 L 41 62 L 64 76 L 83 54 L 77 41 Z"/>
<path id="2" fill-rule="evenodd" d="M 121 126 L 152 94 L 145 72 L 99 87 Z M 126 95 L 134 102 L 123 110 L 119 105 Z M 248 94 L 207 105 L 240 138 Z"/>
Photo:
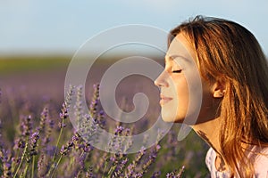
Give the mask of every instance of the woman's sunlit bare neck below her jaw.
<path id="1" fill-rule="evenodd" d="M 220 117 L 216 117 L 204 123 L 192 125 L 192 128 L 218 154 L 222 154 L 220 147 Z"/>

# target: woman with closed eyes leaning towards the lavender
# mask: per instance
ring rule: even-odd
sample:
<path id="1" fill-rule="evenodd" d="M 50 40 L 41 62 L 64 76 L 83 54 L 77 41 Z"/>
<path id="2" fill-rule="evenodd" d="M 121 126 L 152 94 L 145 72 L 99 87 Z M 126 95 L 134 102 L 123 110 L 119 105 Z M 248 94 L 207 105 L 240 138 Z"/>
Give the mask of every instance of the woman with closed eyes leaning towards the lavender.
<path id="1" fill-rule="evenodd" d="M 168 45 L 155 80 L 163 120 L 190 125 L 211 146 L 212 177 L 268 177 L 268 67 L 255 36 L 197 16 L 172 29 Z"/>

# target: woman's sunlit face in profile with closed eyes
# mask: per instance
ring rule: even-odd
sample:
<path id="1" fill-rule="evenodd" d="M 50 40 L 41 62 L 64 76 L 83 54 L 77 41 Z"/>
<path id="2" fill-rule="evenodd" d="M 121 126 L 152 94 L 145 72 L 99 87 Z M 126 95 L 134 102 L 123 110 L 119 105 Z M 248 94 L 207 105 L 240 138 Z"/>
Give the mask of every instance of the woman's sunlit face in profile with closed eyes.
<path id="1" fill-rule="evenodd" d="M 165 69 L 155 80 L 161 89 L 163 120 L 195 125 L 211 114 L 212 85 L 199 75 L 197 57 L 188 40 L 177 35 L 165 56 Z"/>

